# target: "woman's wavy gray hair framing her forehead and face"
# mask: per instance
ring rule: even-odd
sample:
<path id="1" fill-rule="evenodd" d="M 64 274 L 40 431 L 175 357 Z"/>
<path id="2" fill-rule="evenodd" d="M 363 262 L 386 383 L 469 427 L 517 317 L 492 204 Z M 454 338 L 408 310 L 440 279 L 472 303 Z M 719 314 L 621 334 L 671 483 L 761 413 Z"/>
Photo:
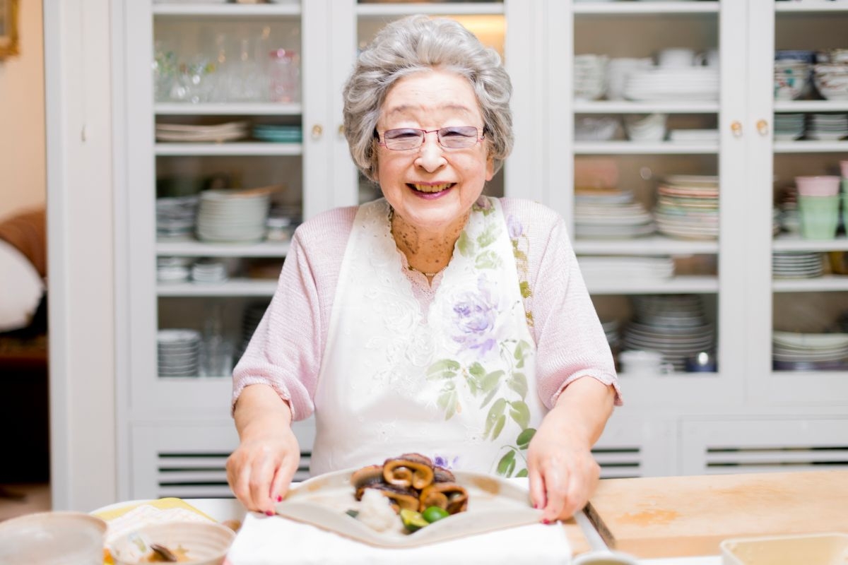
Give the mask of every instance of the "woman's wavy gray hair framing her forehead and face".
<path id="1" fill-rule="evenodd" d="M 512 151 L 512 84 L 499 54 L 453 19 L 413 15 L 377 33 L 344 85 L 344 136 L 354 163 L 370 180 L 377 180 L 375 131 L 388 91 L 398 80 L 434 68 L 455 72 L 471 83 L 495 171 Z"/>

